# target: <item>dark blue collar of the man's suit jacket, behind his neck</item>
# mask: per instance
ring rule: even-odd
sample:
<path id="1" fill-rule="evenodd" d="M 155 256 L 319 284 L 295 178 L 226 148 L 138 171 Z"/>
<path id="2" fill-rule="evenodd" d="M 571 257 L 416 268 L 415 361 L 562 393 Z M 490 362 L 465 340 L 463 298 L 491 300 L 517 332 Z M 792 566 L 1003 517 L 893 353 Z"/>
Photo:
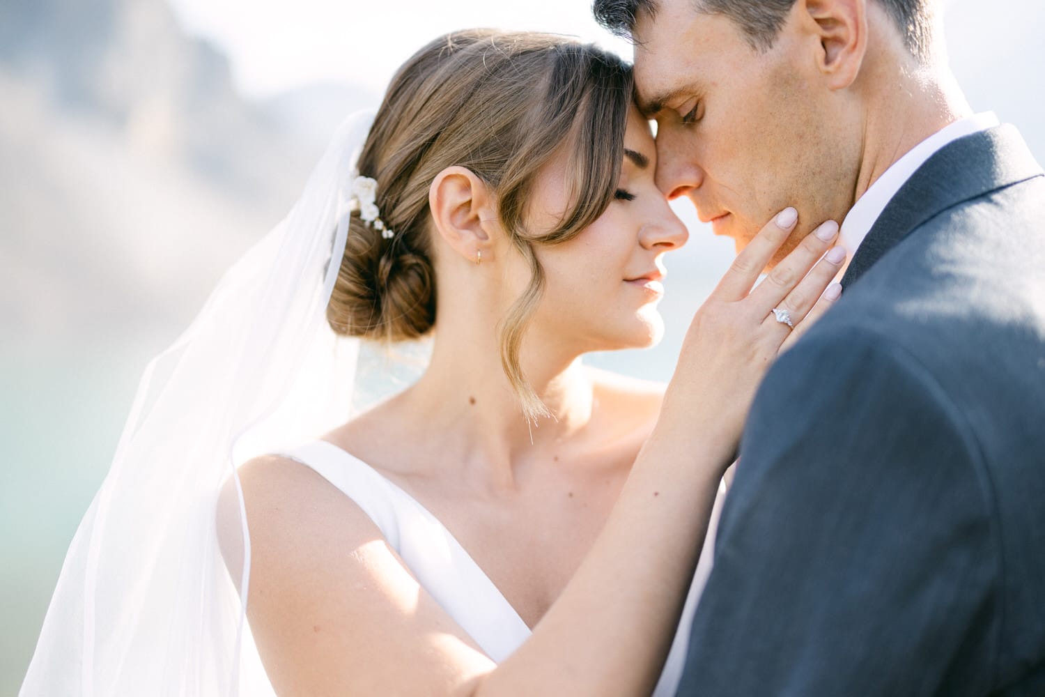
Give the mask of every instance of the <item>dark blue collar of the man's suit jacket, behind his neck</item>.
<path id="1" fill-rule="evenodd" d="M 1022 136 L 1009 124 L 945 145 L 886 205 L 854 255 L 842 285 L 855 283 L 900 240 L 948 208 L 1042 175 Z"/>

